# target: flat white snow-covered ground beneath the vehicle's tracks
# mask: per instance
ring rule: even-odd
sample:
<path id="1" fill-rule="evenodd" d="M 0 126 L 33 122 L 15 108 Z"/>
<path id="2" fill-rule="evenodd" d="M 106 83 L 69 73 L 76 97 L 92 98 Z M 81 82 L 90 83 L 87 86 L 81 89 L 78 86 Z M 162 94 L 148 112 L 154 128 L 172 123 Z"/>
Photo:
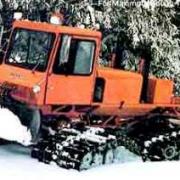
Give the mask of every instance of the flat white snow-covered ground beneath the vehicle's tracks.
<path id="1" fill-rule="evenodd" d="M 46 165 L 32 159 L 30 150 L 18 145 L 0 147 L 0 179 L 49 180 L 156 180 L 180 178 L 180 162 L 143 163 L 127 151 L 122 152 L 122 162 L 78 172 Z"/>

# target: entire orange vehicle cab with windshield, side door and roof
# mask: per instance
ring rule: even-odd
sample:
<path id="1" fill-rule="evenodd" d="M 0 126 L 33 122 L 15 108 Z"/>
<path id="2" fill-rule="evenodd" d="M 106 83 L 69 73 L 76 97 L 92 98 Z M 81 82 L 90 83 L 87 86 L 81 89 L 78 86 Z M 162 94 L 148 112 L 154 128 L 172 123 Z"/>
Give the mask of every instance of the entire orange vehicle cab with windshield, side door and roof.
<path id="1" fill-rule="evenodd" d="M 92 102 L 101 33 L 48 23 L 15 21 L 0 66 L 1 89 L 43 106 Z"/>

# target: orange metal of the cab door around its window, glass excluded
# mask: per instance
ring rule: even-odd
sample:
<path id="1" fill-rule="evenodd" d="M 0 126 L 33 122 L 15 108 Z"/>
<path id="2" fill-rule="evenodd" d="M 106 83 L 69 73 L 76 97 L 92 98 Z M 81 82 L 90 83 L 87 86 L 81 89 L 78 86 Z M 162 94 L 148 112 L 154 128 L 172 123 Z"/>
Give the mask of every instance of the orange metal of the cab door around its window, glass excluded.
<path id="1" fill-rule="evenodd" d="M 76 37 L 78 39 L 91 40 L 96 43 L 92 73 L 90 75 L 82 76 L 54 74 L 52 72 L 52 63 L 50 68 L 50 74 L 48 75 L 48 85 L 46 93 L 46 104 L 48 105 L 90 105 L 92 102 L 97 58 L 100 49 L 100 39 L 99 37 L 93 38 L 88 35 L 86 35 L 86 38 L 80 36 L 73 37 Z M 58 44 L 59 43 L 60 41 L 58 42 Z"/>

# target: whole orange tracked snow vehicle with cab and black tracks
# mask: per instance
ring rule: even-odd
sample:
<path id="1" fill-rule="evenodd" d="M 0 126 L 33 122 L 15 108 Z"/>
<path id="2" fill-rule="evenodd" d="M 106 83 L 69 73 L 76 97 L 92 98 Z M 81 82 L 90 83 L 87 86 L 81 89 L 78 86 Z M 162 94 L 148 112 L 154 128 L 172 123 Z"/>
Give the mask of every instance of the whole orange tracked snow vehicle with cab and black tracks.
<path id="1" fill-rule="evenodd" d="M 14 22 L 0 65 L 1 104 L 35 124 L 32 157 L 79 170 L 118 161 L 122 146 L 143 160 L 178 159 L 173 81 L 100 67 L 100 48 L 97 31 Z"/>

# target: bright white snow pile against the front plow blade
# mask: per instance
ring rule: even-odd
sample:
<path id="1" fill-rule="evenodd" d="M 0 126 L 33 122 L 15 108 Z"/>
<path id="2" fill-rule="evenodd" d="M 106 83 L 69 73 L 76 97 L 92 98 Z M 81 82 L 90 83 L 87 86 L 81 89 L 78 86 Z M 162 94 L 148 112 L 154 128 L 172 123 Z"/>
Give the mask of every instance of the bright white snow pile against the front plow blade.
<path id="1" fill-rule="evenodd" d="M 19 118 L 8 109 L 0 109 L 0 138 L 15 141 L 24 146 L 31 144 L 31 133 Z"/>

